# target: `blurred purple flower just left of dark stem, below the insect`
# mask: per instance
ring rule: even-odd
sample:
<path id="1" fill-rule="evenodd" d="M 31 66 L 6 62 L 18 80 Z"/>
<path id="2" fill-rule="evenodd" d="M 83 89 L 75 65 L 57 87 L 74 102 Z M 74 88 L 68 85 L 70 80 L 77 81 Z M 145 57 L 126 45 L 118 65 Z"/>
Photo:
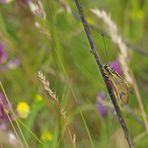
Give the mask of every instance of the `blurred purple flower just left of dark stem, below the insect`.
<path id="1" fill-rule="evenodd" d="M 104 104 L 106 100 L 106 94 L 101 91 L 97 96 L 97 108 L 102 117 L 106 117 L 108 114 L 107 106 Z"/>

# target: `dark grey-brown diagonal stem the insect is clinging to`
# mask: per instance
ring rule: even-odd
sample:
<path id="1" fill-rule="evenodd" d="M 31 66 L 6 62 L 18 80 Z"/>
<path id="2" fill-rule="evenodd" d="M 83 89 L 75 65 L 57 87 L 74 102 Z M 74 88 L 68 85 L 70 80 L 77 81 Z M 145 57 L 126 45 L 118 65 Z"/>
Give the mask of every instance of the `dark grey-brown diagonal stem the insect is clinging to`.
<path id="1" fill-rule="evenodd" d="M 79 11 L 79 15 L 80 15 L 80 18 L 81 18 L 81 21 L 83 23 L 83 27 L 85 29 L 85 32 L 86 32 L 86 35 L 87 35 L 87 38 L 89 40 L 89 44 L 91 46 L 91 50 L 92 50 L 92 53 L 95 57 L 95 60 L 98 64 L 98 67 L 100 69 L 100 72 L 103 76 L 103 79 L 104 79 L 104 82 L 106 84 L 106 87 L 107 87 L 107 90 L 108 90 L 108 93 L 110 95 L 110 98 L 111 98 L 111 101 L 114 105 L 114 109 L 116 111 L 116 114 L 117 114 L 117 117 L 118 117 L 118 120 L 119 120 L 119 123 L 124 131 L 124 134 L 125 134 L 125 137 L 127 139 L 127 142 L 129 144 L 129 147 L 130 148 L 134 148 L 134 144 L 133 144 L 133 141 L 131 139 L 131 136 L 129 134 L 129 131 L 128 131 L 128 128 L 126 126 L 126 123 L 124 121 L 124 118 L 122 116 L 122 113 L 121 113 L 121 110 L 116 102 L 116 98 L 115 98 L 115 95 L 114 93 L 112 92 L 112 89 L 111 89 L 111 86 L 110 86 L 110 83 L 107 79 L 107 77 L 105 76 L 104 72 L 103 72 L 103 64 L 101 63 L 101 60 L 100 60 L 100 57 L 99 57 L 99 54 L 97 52 L 97 48 L 96 48 L 96 45 L 94 43 L 94 40 L 93 40 L 93 37 L 91 35 L 91 32 L 90 32 L 90 29 L 89 29 L 89 25 L 87 23 L 87 20 L 85 19 L 85 15 L 84 15 L 84 12 L 83 12 L 83 9 L 82 9 L 82 6 L 81 6 L 81 3 L 80 3 L 80 0 L 75 0 L 75 3 L 76 3 L 76 6 L 77 6 L 77 9 Z"/>

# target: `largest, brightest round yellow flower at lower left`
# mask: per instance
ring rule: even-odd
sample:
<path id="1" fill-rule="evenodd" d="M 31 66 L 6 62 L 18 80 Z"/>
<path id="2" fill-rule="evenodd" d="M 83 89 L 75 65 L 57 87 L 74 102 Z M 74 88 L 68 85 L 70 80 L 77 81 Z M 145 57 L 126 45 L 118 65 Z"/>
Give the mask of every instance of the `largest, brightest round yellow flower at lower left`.
<path id="1" fill-rule="evenodd" d="M 30 106 L 28 105 L 27 102 L 22 101 L 17 104 L 16 110 L 19 114 L 19 117 L 27 118 L 30 113 Z"/>

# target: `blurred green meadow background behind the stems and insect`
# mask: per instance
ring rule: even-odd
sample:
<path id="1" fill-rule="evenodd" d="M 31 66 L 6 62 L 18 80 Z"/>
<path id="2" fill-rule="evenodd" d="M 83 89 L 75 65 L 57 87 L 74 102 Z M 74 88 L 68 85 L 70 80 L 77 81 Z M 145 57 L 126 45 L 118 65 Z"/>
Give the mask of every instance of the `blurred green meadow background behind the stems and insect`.
<path id="1" fill-rule="evenodd" d="M 106 11 L 117 25 L 128 47 L 128 66 L 135 76 L 147 119 L 148 2 L 81 2 L 104 64 L 119 64 L 119 48 L 108 36 L 108 27 L 91 9 Z M 66 120 L 41 84 L 39 71 L 66 111 Z M 22 143 L 31 148 L 70 148 L 74 147 L 70 129 L 78 148 L 128 147 L 74 1 L 0 0 L 0 80 L 1 146 L 20 147 Z M 124 107 L 121 110 L 130 135 L 137 148 L 147 148 L 143 113 L 134 91 L 128 105 L 130 111 Z"/>

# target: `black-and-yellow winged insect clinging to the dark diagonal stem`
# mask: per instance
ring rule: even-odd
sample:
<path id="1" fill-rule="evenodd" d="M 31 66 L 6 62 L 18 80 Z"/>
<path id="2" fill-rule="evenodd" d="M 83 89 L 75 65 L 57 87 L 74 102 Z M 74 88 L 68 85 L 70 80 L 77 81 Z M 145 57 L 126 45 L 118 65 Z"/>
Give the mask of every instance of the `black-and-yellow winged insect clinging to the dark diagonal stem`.
<path id="1" fill-rule="evenodd" d="M 121 104 L 126 105 L 129 100 L 129 94 L 132 92 L 130 84 L 122 78 L 109 64 L 103 68 L 105 76 L 111 81 L 115 96 Z"/>

